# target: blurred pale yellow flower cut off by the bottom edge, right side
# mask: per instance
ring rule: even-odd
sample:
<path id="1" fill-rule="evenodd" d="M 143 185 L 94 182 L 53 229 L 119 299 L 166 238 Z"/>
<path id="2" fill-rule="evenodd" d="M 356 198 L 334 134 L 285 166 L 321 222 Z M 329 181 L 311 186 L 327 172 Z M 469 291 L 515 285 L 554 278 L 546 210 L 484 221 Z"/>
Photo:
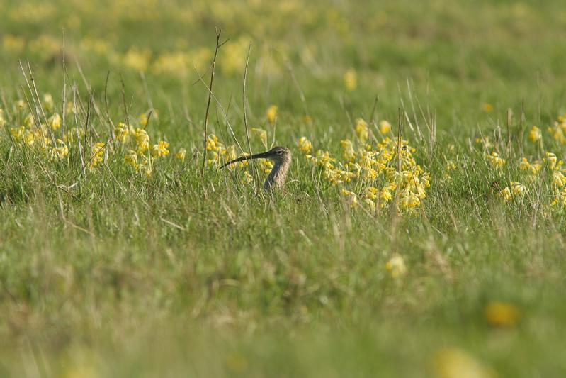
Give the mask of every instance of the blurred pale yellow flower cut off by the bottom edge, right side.
<path id="1" fill-rule="evenodd" d="M 491 369 L 468 353 L 456 348 L 442 348 L 434 353 L 434 373 L 438 378 L 494 378 Z"/>

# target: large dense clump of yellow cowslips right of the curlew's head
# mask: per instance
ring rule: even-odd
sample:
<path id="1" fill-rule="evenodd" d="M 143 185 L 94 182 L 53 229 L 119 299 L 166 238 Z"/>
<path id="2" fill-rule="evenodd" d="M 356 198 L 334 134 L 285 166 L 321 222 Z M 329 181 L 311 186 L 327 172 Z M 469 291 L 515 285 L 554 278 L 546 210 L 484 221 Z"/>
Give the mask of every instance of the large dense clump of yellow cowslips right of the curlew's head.
<path id="1" fill-rule="evenodd" d="M 384 126 L 389 126 L 382 121 Z M 387 129 L 387 132 L 389 131 Z M 330 184 L 340 185 L 344 201 L 351 207 L 364 206 L 369 211 L 388 206 L 396 198 L 399 211 L 414 211 L 421 206 L 430 186 L 430 174 L 414 160 L 416 151 L 407 140 L 385 136 L 380 142 L 367 144 L 370 138 L 368 123 L 356 120 L 357 141 L 341 140 L 342 155 L 338 160 L 327 150 L 311 154 L 312 143 L 306 137 L 297 147 L 305 159 L 321 169 L 322 177 Z M 385 131 L 385 130 L 384 130 Z M 399 155 L 400 152 L 400 155 Z M 352 187 L 352 190 L 346 189 Z"/>

